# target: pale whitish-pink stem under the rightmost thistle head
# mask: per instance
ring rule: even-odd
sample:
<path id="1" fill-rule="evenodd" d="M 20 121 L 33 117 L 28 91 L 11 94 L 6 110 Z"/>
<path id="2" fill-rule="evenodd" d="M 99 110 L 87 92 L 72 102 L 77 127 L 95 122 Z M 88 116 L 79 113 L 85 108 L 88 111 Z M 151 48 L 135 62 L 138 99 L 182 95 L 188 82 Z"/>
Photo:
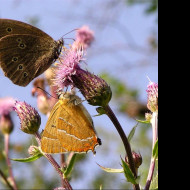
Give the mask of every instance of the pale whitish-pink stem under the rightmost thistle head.
<path id="1" fill-rule="evenodd" d="M 153 133 L 153 135 L 152 135 L 152 151 L 153 151 L 155 142 L 158 138 L 158 114 L 157 114 L 157 112 L 153 112 L 151 123 L 152 123 L 152 133 Z M 155 161 L 156 160 L 153 157 L 151 157 L 150 168 L 149 168 L 148 177 L 147 177 L 147 181 L 146 181 L 146 185 L 145 185 L 145 190 L 149 190 L 149 188 L 150 188 L 150 184 L 151 184 L 152 177 L 154 174 Z"/>

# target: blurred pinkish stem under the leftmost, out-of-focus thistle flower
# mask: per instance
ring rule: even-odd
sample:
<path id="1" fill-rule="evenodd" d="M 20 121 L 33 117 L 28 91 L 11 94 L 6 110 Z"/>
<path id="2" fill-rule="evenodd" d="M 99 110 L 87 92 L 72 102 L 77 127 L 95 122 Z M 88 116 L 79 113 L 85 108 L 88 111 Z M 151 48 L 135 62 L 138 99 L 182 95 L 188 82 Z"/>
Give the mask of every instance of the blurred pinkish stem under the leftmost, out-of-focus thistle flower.
<path id="1" fill-rule="evenodd" d="M 6 162 L 7 162 L 7 166 L 8 166 L 8 172 L 9 172 L 9 176 L 11 179 L 11 184 L 13 186 L 14 190 L 17 190 L 17 186 L 16 186 L 16 182 L 13 176 L 13 172 L 12 172 L 12 167 L 11 167 L 11 162 L 9 159 L 9 134 L 5 134 L 5 155 L 6 155 Z"/>

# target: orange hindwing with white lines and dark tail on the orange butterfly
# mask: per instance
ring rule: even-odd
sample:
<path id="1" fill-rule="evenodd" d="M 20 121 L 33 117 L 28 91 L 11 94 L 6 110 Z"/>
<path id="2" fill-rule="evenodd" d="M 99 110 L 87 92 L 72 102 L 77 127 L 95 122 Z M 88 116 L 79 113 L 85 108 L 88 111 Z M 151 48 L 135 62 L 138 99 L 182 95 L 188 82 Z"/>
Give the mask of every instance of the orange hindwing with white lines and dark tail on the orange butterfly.
<path id="1" fill-rule="evenodd" d="M 99 144 L 93 122 L 82 104 L 61 104 L 57 121 L 57 135 L 62 146 L 68 151 L 88 152 Z"/>

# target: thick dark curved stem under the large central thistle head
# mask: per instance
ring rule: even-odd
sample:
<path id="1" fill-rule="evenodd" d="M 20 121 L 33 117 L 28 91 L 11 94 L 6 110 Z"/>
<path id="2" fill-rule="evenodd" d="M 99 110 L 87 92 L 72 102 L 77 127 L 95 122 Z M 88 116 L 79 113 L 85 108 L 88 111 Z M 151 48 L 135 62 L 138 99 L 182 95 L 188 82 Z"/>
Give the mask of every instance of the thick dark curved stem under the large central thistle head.
<path id="1" fill-rule="evenodd" d="M 133 172 L 134 176 L 137 177 L 137 173 L 136 173 L 136 169 L 135 169 L 135 165 L 134 165 L 134 161 L 133 161 L 133 156 L 132 156 L 132 152 L 131 152 L 131 146 L 129 144 L 127 136 L 125 135 L 119 121 L 117 120 L 117 118 L 116 118 L 115 114 L 113 113 L 112 109 L 110 108 L 110 106 L 109 105 L 105 106 L 104 110 L 105 110 L 107 116 L 113 122 L 115 128 L 117 129 L 117 131 L 123 141 L 126 155 L 128 157 L 128 161 L 129 161 L 129 167 L 131 168 L 131 171 Z M 134 189 L 139 190 L 140 189 L 139 185 L 138 184 L 135 185 Z"/>

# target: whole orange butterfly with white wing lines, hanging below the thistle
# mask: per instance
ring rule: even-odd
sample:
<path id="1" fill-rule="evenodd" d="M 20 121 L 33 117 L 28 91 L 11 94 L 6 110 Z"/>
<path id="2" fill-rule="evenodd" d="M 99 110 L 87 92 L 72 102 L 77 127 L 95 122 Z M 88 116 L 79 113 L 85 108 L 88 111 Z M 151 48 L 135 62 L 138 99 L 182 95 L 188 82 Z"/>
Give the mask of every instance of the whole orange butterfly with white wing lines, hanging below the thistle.
<path id="1" fill-rule="evenodd" d="M 81 99 L 71 93 L 62 94 L 53 107 L 42 134 L 41 149 L 45 153 L 84 153 L 101 145 L 93 121 Z"/>

